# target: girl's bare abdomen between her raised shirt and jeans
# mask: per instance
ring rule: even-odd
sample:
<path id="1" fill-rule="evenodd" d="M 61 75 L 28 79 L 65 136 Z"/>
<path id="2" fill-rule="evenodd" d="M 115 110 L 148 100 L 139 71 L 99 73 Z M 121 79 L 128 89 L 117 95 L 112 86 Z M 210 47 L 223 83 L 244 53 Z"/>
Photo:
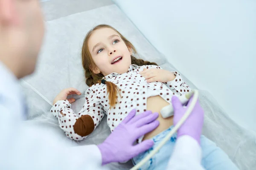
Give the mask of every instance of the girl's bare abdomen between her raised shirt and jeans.
<path id="1" fill-rule="evenodd" d="M 155 130 L 145 134 L 143 140 L 150 139 L 173 125 L 173 116 L 163 119 L 160 114 L 161 109 L 167 105 L 169 105 L 169 103 L 160 96 L 153 96 L 147 99 L 147 110 L 152 111 L 152 113 L 159 113 L 157 120 L 160 122 L 160 124 Z"/>

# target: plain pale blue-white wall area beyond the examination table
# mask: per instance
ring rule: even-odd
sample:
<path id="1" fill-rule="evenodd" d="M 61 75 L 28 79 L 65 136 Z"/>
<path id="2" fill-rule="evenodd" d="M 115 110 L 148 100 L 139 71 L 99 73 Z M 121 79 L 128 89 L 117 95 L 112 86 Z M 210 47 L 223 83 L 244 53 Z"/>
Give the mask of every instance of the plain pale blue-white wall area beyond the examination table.
<path id="1" fill-rule="evenodd" d="M 256 130 L 255 0 L 114 0 L 169 62 Z"/>

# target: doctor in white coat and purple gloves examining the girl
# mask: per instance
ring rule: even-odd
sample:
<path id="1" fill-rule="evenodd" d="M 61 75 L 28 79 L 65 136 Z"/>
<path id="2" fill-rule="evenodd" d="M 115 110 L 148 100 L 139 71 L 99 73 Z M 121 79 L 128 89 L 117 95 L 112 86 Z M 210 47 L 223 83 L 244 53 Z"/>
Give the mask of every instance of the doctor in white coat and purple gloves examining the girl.
<path id="1" fill-rule="evenodd" d="M 104 164 L 127 161 L 149 149 L 153 145 L 152 140 L 133 145 L 137 138 L 159 125 L 155 120 L 158 114 L 149 112 L 135 116 L 135 112 L 131 111 L 113 133 L 97 146 L 63 147 L 63 143 L 54 140 L 54 133 L 22 125 L 22 120 L 26 118 L 26 105 L 18 79 L 35 70 L 43 35 L 44 21 L 39 0 L 0 0 L 0 169 L 103 170 L 107 169 L 106 166 L 102 167 Z M 186 108 L 181 106 L 177 98 L 173 98 L 173 102 L 177 123 Z M 193 166 L 200 169 L 198 136 L 201 134 L 201 124 L 195 125 L 195 116 L 201 115 L 203 120 L 199 104 L 192 115 L 178 131 L 179 138 L 169 164 L 172 169 L 175 169 L 175 164 L 191 161 L 193 156 L 189 155 L 190 152 L 199 153 Z M 138 127 L 137 122 L 144 122 L 144 125 Z M 188 128 L 194 125 L 194 130 Z"/>

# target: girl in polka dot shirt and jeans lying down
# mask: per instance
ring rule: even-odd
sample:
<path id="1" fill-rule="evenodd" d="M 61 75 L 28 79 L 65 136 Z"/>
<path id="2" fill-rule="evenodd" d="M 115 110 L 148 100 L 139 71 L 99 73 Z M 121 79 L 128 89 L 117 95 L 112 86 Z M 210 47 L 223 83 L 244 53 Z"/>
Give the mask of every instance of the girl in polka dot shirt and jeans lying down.
<path id="1" fill-rule="evenodd" d="M 64 90 L 56 96 L 51 109 L 67 137 L 74 140 L 85 139 L 105 115 L 108 126 L 113 131 L 133 108 L 136 108 L 138 114 L 146 110 L 160 113 L 163 107 L 171 104 L 173 95 L 180 96 L 191 91 L 177 72 L 163 70 L 156 63 L 137 59 L 133 54 L 137 54 L 137 51 L 131 42 L 111 26 L 99 25 L 87 33 L 82 47 L 82 64 L 86 84 L 90 88 L 85 92 L 84 106 L 78 114 L 70 109 L 70 103 L 75 100 L 65 100 L 66 96 L 81 95 L 79 91 L 71 88 L 71 93 Z M 172 119 L 172 117 L 163 119 L 159 116 L 160 125 L 142 136 L 138 142 L 153 138 L 157 145 L 172 129 Z M 164 170 L 175 140 L 176 137 L 172 137 L 142 169 Z M 206 169 L 234 170 L 233 163 L 209 139 L 202 136 L 201 144 L 202 148 L 208 147 L 204 153 L 207 159 L 202 161 Z M 150 151 L 135 157 L 134 164 L 142 160 Z M 217 157 L 216 154 L 210 154 L 212 151 L 221 154 Z M 221 163 L 227 161 L 227 166 L 221 164 L 221 167 L 216 167 L 216 161 L 215 164 L 211 164 L 217 158 Z"/>

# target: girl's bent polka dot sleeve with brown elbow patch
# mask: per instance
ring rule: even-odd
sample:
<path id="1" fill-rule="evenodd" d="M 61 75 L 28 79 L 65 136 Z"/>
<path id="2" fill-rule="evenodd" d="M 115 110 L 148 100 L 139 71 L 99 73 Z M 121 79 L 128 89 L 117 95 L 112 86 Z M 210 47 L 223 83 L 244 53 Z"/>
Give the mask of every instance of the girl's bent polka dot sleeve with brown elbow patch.
<path id="1" fill-rule="evenodd" d="M 71 104 L 67 100 L 60 100 L 52 107 L 51 112 L 58 118 L 59 126 L 70 139 L 85 139 L 104 117 L 98 88 L 93 85 L 85 92 L 85 102 L 78 114 L 70 108 Z"/>

